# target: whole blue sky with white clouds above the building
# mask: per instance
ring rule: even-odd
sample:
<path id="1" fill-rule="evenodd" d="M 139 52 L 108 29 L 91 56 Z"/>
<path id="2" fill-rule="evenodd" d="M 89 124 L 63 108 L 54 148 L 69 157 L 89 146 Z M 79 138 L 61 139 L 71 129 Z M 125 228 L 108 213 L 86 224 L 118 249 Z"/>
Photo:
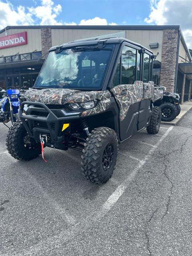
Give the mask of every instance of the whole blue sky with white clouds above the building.
<path id="1" fill-rule="evenodd" d="M 192 0 L 0 0 L 9 25 L 180 25 L 192 48 Z"/>

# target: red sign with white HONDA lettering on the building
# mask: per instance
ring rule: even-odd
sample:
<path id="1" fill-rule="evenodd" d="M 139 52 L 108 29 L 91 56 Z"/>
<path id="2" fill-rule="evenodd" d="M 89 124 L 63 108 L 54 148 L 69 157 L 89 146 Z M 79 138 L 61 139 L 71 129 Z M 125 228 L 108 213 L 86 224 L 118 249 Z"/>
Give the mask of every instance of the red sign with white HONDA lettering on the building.
<path id="1" fill-rule="evenodd" d="M 27 44 L 27 32 L 0 37 L 0 49 Z"/>

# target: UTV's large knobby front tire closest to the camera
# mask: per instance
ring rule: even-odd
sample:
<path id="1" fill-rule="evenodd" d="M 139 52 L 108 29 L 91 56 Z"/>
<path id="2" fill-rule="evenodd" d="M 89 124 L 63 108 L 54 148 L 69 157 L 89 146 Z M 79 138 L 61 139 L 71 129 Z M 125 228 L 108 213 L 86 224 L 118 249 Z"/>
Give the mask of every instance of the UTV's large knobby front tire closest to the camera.
<path id="1" fill-rule="evenodd" d="M 116 132 L 99 127 L 88 135 L 82 154 L 83 175 L 92 183 L 106 183 L 112 176 L 118 155 Z"/>

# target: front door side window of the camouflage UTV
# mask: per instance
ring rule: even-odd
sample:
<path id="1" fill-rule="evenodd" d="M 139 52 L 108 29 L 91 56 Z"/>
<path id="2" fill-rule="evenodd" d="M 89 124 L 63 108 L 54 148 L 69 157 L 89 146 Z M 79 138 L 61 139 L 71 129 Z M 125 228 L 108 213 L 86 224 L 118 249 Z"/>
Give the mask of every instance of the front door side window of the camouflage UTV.
<path id="1" fill-rule="evenodd" d="M 133 84 L 136 74 L 136 49 L 124 46 L 122 50 L 121 84 Z"/>

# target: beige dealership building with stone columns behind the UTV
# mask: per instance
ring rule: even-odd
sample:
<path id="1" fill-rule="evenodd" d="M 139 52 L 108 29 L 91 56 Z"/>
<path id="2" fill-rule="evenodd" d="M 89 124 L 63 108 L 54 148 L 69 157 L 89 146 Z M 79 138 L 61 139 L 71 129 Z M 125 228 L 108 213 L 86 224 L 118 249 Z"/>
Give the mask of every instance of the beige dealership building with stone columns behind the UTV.
<path id="1" fill-rule="evenodd" d="M 113 34 L 151 48 L 155 84 L 182 102 L 192 98 L 192 59 L 180 26 L 7 26 L 0 30 L 0 87 L 32 87 L 51 46 Z"/>

